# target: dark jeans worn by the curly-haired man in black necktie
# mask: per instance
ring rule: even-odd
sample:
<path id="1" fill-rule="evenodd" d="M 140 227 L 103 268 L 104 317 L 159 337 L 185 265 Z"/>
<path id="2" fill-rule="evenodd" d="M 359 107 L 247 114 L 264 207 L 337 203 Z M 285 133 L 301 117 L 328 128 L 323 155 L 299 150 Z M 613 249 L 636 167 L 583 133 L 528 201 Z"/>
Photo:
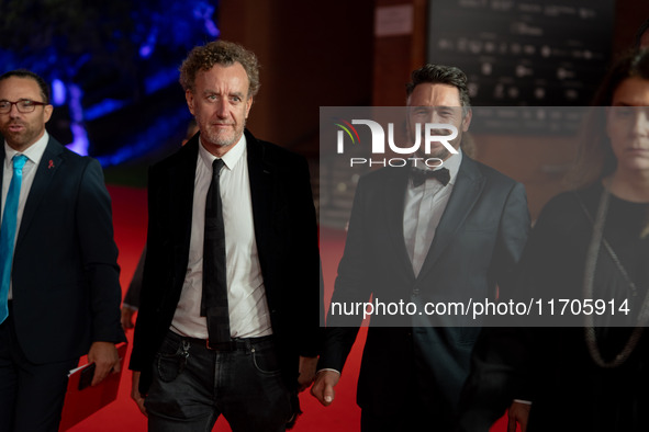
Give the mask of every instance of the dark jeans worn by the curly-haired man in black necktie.
<path id="1" fill-rule="evenodd" d="M 272 338 L 243 341 L 212 351 L 169 331 L 145 399 L 148 430 L 211 431 L 223 414 L 234 432 L 283 431 L 292 410 Z"/>

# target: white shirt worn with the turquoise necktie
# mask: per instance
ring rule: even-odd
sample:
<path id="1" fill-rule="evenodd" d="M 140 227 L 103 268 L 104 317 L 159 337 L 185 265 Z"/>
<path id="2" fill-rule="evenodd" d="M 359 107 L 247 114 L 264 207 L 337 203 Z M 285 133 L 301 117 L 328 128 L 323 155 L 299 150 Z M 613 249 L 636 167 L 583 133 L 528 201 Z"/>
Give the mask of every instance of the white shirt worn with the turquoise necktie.
<path id="1" fill-rule="evenodd" d="M 49 135 L 47 132 L 43 134 L 43 136 L 34 144 L 32 144 L 25 151 L 18 152 L 11 147 L 7 145 L 4 141 L 4 169 L 2 171 L 2 209 L 0 213 L 0 218 L 4 217 L 4 202 L 7 201 L 7 194 L 9 193 L 9 184 L 11 183 L 11 178 L 13 177 L 13 157 L 15 155 L 24 155 L 27 157 L 27 161 L 23 167 L 23 178 L 20 187 L 20 196 L 18 198 L 18 214 L 15 218 L 15 238 L 13 239 L 13 246 L 15 247 L 15 241 L 18 239 L 18 234 L 20 232 L 20 223 L 23 218 L 23 212 L 25 209 L 25 203 L 27 202 L 27 196 L 30 195 L 30 190 L 32 189 L 32 184 L 34 183 L 34 177 L 36 175 L 36 168 L 38 163 L 41 163 L 41 159 L 43 158 L 43 154 L 45 152 L 45 148 L 47 147 L 47 141 L 49 140 Z M 9 299 L 13 298 L 13 291 L 12 291 L 13 282 L 9 285 Z"/>

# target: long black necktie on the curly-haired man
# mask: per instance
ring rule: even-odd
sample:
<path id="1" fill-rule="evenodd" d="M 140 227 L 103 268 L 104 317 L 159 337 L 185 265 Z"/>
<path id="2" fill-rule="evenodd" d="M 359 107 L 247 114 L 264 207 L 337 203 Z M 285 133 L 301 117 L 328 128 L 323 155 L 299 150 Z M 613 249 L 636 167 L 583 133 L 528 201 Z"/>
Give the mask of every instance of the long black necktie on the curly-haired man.
<path id="1" fill-rule="evenodd" d="M 212 182 L 205 202 L 205 234 L 203 242 L 203 296 L 201 316 L 208 317 L 210 343 L 230 341 L 227 281 L 225 273 L 225 229 L 219 174 L 223 160 L 212 163 Z"/>

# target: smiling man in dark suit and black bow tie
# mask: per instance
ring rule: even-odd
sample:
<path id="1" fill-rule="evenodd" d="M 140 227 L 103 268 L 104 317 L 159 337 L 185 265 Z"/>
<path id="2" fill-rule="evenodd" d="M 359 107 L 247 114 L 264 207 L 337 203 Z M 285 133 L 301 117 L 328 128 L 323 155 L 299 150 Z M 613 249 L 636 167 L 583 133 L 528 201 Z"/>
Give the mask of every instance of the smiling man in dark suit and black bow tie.
<path id="1" fill-rule="evenodd" d="M 472 112 L 461 70 L 425 65 L 412 73 L 406 94 L 411 138 L 417 123 L 452 125 L 457 136 L 448 147 L 432 143 L 411 167 L 361 178 L 332 304 L 369 302 L 370 295 L 419 308 L 459 298 L 494 300 L 496 287 L 511 284 L 527 238 L 525 190 L 462 152 Z M 441 167 L 433 167 L 436 159 Z M 325 406 L 334 400 L 361 319 L 329 309 L 312 388 Z M 418 314 L 371 318 L 357 394 L 362 431 L 418 430 L 426 423 L 452 429 L 480 332 L 458 322 Z"/>

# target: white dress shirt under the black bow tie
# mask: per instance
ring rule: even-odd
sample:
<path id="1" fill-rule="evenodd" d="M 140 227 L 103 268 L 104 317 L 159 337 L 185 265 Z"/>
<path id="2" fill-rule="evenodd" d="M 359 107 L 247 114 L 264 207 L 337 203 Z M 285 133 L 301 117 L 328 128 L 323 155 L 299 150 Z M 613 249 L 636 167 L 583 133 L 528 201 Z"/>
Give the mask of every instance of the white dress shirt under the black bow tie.
<path id="1" fill-rule="evenodd" d="M 449 171 L 450 181 L 446 186 L 436 179 L 426 179 L 423 184 L 416 187 L 411 181 L 407 183 L 403 209 L 403 238 L 415 276 L 418 276 L 424 265 L 424 260 L 435 238 L 435 231 L 456 183 L 461 162 L 462 151 L 459 150 L 457 155 L 450 155 L 439 167 Z M 415 160 L 413 166 L 417 169 L 430 169 L 421 160 Z"/>

